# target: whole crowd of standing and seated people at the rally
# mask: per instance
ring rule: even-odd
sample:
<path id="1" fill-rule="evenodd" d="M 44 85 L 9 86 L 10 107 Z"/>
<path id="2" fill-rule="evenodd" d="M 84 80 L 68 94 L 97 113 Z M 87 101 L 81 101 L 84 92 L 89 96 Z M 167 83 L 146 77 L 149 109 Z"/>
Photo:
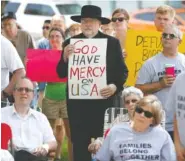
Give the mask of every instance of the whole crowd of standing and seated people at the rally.
<path id="1" fill-rule="evenodd" d="M 11 161 L 62 161 L 65 135 L 69 161 L 91 161 L 92 154 L 97 161 L 185 161 L 185 56 L 178 52 L 183 33 L 173 23 L 175 15 L 168 5 L 156 9 L 154 23 L 161 32 L 162 51 L 145 61 L 135 87 L 124 88 L 129 75 L 125 48 L 130 29 L 125 9 L 118 8 L 106 18 L 100 7 L 85 5 L 81 15 L 71 16 L 76 23 L 69 28 L 63 16 L 55 15 L 44 21 L 43 37 L 37 42 L 18 26 L 13 13 L 4 13 L 1 122 L 12 131 L 8 138 L 14 149 Z M 73 39 L 107 41 L 107 84 L 100 89 L 102 99 L 69 97 L 69 79 L 33 82 L 25 77 L 29 48 L 62 51 L 56 72 L 60 78 L 68 77 L 69 59 L 75 52 Z M 173 73 L 166 71 L 167 65 L 173 66 Z M 104 115 L 110 107 L 126 109 L 127 119 L 117 116 L 104 133 Z M 163 120 L 165 126 L 161 126 Z M 5 135 L 2 128 L 2 138 Z M 103 139 L 91 142 L 99 137 Z M 2 145 L 1 149 L 7 149 Z M 4 154 L 8 159 L 9 154 Z"/>

